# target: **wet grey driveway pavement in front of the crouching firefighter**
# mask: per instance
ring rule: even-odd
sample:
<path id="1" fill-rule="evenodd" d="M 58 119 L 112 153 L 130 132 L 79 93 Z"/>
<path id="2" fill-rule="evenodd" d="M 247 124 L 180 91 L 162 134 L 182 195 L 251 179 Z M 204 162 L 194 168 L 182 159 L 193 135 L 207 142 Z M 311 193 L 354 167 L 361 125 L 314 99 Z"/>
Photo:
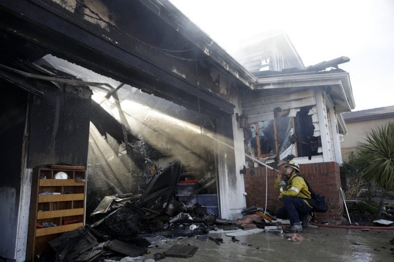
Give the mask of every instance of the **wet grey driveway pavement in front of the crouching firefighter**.
<path id="1" fill-rule="evenodd" d="M 165 252 L 174 244 L 190 244 L 199 247 L 193 257 L 167 257 L 161 261 L 394 261 L 394 251 L 390 251 L 394 245 L 389 243 L 394 230 L 307 228 L 300 234 L 306 238 L 301 243 L 292 243 L 286 234 L 238 236 L 240 241 L 235 243 L 224 234 L 209 235 L 223 238 L 224 243 L 218 246 L 211 240 L 189 237 L 150 248 L 146 256 L 153 258 L 154 253 Z"/>

